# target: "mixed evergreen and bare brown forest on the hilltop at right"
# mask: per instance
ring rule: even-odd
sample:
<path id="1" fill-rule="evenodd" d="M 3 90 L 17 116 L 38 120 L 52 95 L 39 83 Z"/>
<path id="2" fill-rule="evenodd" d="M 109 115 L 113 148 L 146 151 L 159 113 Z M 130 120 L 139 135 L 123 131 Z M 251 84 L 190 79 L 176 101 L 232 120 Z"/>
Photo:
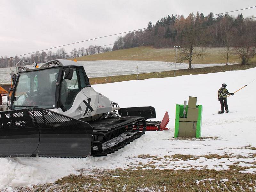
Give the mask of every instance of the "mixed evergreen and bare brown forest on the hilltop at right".
<path id="1" fill-rule="evenodd" d="M 228 13 L 215 16 L 212 12 L 207 16 L 190 13 L 187 18 L 168 15 L 153 25 L 149 21 L 145 30 L 118 36 L 113 51 L 143 45 L 157 48 L 178 45 L 179 62 L 188 61 L 191 68 L 193 58 L 205 55 L 205 47 L 221 47 L 226 64 L 235 54 L 244 65 L 256 54 L 256 21 L 250 18 Z"/>

